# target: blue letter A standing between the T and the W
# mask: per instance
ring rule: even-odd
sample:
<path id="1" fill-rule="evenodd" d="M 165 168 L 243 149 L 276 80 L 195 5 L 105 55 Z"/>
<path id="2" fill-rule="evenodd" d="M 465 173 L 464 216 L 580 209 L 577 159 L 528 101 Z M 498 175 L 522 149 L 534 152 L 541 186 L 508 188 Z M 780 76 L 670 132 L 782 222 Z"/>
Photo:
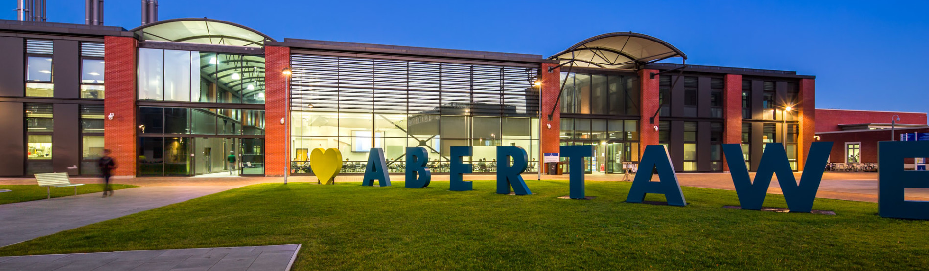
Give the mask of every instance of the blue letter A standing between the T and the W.
<path id="1" fill-rule="evenodd" d="M 658 169 L 660 181 L 652 182 L 652 170 Z M 668 149 L 662 145 L 648 145 L 645 147 L 645 153 L 642 154 L 642 161 L 639 161 L 638 174 L 635 174 L 633 187 L 629 188 L 629 196 L 626 202 L 640 203 L 645 200 L 645 194 L 664 194 L 668 200 L 668 205 L 687 206 L 684 200 L 684 193 L 681 193 L 681 185 L 677 183 L 677 175 L 674 174 L 674 166 L 671 165 L 671 159 L 668 158 Z"/>

